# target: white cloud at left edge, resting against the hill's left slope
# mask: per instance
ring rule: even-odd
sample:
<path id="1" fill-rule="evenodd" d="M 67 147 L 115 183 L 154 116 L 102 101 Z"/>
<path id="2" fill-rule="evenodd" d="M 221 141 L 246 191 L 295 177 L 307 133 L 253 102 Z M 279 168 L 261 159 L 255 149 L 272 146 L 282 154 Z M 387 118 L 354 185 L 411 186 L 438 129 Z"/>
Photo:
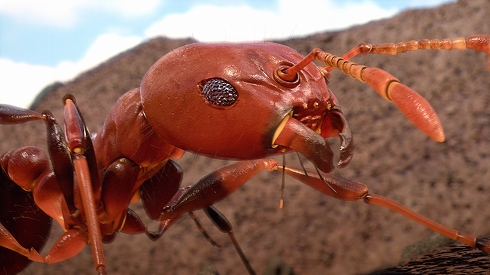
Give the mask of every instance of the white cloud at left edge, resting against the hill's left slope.
<path id="1" fill-rule="evenodd" d="M 0 58 L 2 92 L 0 103 L 27 108 L 35 96 L 55 81 L 67 81 L 110 57 L 141 43 L 142 38 L 114 34 L 99 36 L 77 62 L 64 61 L 56 67 L 31 65 Z"/>

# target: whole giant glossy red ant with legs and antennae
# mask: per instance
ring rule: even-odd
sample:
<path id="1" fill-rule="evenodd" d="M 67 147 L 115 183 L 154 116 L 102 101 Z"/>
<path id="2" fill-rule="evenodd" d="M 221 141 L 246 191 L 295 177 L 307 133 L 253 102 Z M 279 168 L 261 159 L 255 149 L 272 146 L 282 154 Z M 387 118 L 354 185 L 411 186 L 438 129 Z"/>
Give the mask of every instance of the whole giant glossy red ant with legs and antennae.
<path id="1" fill-rule="evenodd" d="M 368 193 L 362 183 L 330 173 L 334 165 L 329 137 L 340 138 L 338 167 L 348 165 L 354 150 L 351 128 L 327 87 L 333 69 L 366 82 L 424 133 L 444 141 L 439 118 L 423 97 L 381 69 L 349 61 L 358 54 L 421 49 L 490 53 L 490 35 L 360 44 L 342 57 L 320 49 L 304 57 L 289 47 L 265 42 L 187 45 L 157 61 L 141 87 L 117 101 L 103 128 L 92 137 L 73 96 L 63 99 L 65 133 L 49 111 L 0 105 L 1 124 L 43 120 L 49 151 L 48 156 L 36 147 L 23 147 L 0 158 L 0 194 L 5 202 L 0 212 L 3 270 L 13 274 L 30 261 L 63 261 L 90 244 L 95 268 L 105 274 L 102 243 L 112 241 L 116 233 L 145 233 L 155 240 L 182 214 L 203 209 L 229 233 L 249 273 L 255 274 L 231 225 L 213 204 L 262 170 L 282 171 L 341 200 L 389 208 L 490 252 L 485 239 L 447 228 L 391 199 Z M 324 66 L 317 67 L 315 60 Z M 183 172 L 175 160 L 185 151 L 237 162 L 180 188 Z M 296 169 L 268 159 L 293 151 L 305 156 L 315 169 Z M 138 199 L 148 217 L 159 222 L 157 231 L 148 230 L 129 208 Z M 42 211 L 22 210 L 33 203 Z M 21 215 L 29 221 L 21 224 L 22 220 L 12 218 Z M 37 250 L 46 240 L 51 218 L 65 232 L 43 257 Z M 23 234 L 18 228 L 23 226 L 35 227 L 36 234 Z"/>

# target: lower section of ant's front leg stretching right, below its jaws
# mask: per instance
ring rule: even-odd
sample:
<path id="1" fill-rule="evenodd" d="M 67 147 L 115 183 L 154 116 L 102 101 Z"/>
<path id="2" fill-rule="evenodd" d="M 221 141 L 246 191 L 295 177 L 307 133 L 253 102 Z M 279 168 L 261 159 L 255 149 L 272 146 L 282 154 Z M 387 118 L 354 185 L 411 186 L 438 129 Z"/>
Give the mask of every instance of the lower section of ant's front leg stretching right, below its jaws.
<path id="1" fill-rule="evenodd" d="M 286 174 L 331 197 L 345 201 L 363 200 L 367 204 L 388 208 L 450 239 L 490 253 L 489 239 L 481 239 L 473 235 L 460 233 L 422 216 L 390 198 L 369 194 L 368 187 L 363 183 L 321 171 L 299 170 L 282 166 L 278 166 L 277 169 L 283 169 Z"/>

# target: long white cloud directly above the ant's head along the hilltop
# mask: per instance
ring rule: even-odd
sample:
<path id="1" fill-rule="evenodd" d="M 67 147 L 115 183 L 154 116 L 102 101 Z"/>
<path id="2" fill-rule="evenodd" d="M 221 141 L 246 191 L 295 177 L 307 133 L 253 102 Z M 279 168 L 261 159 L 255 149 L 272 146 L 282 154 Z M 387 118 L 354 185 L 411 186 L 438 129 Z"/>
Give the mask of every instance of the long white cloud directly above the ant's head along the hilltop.
<path id="1" fill-rule="evenodd" d="M 198 5 L 185 13 L 165 16 L 151 25 L 146 36 L 193 37 L 202 42 L 287 39 L 394 15 L 396 9 L 382 9 L 371 1 L 278 0 L 276 10 L 249 6 Z M 348 20 L 346 19 L 348 18 Z"/>

